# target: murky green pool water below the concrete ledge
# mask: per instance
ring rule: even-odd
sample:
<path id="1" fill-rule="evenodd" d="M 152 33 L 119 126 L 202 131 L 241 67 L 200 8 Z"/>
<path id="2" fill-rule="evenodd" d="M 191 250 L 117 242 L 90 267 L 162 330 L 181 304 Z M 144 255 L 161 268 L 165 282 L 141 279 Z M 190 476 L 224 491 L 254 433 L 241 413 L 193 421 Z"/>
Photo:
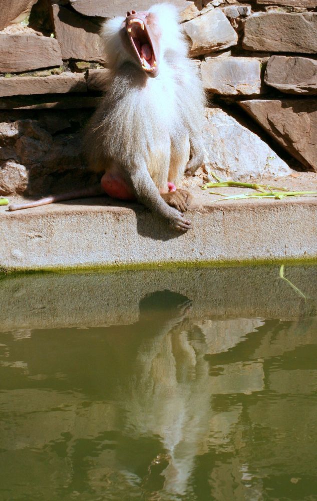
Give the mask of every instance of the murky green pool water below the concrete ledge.
<path id="1" fill-rule="evenodd" d="M 3 282 L 1 501 L 317 499 L 316 268 L 173 273 Z"/>

